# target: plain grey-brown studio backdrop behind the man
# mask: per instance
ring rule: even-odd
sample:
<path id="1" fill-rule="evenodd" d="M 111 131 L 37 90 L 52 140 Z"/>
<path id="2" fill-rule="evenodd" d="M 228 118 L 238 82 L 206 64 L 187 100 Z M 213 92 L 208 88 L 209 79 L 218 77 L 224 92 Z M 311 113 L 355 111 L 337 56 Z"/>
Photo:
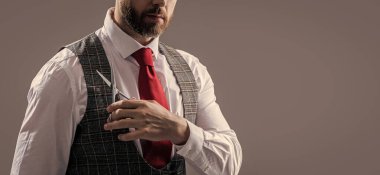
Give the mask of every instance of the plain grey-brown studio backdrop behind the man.
<path id="1" fill-rule="evenodd" d="M 0 6 L 0 174 L 32 78 L 113 1 Z M 243 147 L 243 175 L 380 174 L 380 1 L 179 0 L 162 40 L 198 56 Z"/>

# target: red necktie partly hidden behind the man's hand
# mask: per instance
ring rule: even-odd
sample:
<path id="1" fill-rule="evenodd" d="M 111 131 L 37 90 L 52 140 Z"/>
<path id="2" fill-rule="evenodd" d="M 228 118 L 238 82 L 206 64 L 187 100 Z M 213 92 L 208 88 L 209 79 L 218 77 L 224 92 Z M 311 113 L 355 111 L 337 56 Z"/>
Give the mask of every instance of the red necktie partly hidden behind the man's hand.
<path id="1" fill-rule="evenodd" d="M 164 90 L 153 66 L 152 50 L 141 48 L 132 54 L 140 65 L 138 87 L 140 99 L 156 100 L 169 110 Z M 172 143 L 169 140 L 141 140 L 144 159 L 153 167 L 161 169 L 170 161 Z"/>

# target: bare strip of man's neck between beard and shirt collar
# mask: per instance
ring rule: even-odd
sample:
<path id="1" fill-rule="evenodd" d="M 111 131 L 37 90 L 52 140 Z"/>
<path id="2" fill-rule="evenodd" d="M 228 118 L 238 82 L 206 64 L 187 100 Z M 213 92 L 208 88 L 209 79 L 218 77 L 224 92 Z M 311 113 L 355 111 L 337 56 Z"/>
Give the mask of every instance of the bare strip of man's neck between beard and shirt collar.
<path id="1" fill-rule="evenodd" d="M 117 9 L 115 9 L 115 10 L 117 10 Z M 146 46 L 147 44 L 149 44 L 154 39 L 153 37 L 145 37 L 145 36 L 142 36 L 139 33 L 135 32 L 131 28 L 131 26 L 129 26 L 128 23 L 124 22 L 124 20 L 122 19 L 120 14 L 121 13 L 115 12 L 114 15 L 112 15 L 112 18 L 113 18 L 113 21 L 115 22 L 115 24 L 117 26 L 119 26 L 120 29 L 123 30 L 126 34 L 131 36 L 133 39 L 135 39 L 137 42 L 139 42 L 143 46 Z"/>

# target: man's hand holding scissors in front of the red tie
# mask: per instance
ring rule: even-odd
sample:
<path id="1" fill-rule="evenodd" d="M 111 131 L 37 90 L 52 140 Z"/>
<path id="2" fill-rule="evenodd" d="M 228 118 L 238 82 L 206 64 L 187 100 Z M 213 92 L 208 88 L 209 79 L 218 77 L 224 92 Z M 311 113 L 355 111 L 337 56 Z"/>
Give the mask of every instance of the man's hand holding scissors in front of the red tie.
<path id="1" fill-rule="evenodd" d="M 112 113 L 112 117 L 104 125 L 105 130 L 136 129 L 120 134 L 122 141 L 170 140 L 173 144 L 183 145 L 190 135 L 186 119 L 176 116 L 154 100 L 120 100 L 108 106 L 107 111 Z"/>

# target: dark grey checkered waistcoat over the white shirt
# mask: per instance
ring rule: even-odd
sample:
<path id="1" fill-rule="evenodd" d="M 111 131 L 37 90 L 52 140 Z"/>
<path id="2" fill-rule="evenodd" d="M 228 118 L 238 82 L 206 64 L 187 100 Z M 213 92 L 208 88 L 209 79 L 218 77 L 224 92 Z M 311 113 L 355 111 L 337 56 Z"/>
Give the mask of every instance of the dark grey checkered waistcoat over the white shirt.
<path id="1" fill-rule="evenodd" d="M 106 107 L 112 102 L 112 89 L 96 73 L 98 70 L 111 80 L 111 68 L 99 38 L 92 33 L 66 48 L 78 56 L 88 92 L 86 112 L 75 132 L 66 174 L 186 174 L 182 156 L 175 154 L 166 167 L 155 169 L 144 161 L 133 141 L 117 139 L 118 134 L 129 132 L 128 129 L 112 132 L 103 129 L 108 117 Z M 180 87 L 184 117 L 194 123 L 198 92 L 194 75 L 173 48 L 160 43 L 159 50 L 166 56 Z"/>

